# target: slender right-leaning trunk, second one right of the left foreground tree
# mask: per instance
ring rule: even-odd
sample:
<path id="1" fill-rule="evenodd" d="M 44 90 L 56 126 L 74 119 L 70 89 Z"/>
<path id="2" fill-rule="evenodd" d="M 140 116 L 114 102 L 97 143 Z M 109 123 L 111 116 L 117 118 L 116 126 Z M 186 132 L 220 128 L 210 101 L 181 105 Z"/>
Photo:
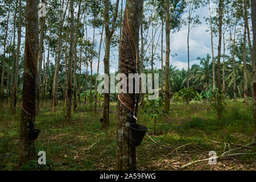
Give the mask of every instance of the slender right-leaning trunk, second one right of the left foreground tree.
<path id="1" fill-rule="evenodd" d="M 63 30 L 63 24 L 64 24 L 66 12 L 68 9 L 68 2 L 69 2 L 69 0 L 67 1 L 64 14 L 63 14 L 63 16 L 61 16 L 61 19 L 60 19 L 60 27 L 59 27 L 59 33 L 58 33 L 59 38 L 58 38 L 58 43 L 57 43 L 57 60 L 56 60 L 56 64 L 55 64 L 55 73 L 54 73 L 53 83 L 52 83 L 52 113 L 55 112 L 55 106 L 57 105 L 60 56 L 61 56 L 61 49 L 62 49 L 62 30 Z"/>

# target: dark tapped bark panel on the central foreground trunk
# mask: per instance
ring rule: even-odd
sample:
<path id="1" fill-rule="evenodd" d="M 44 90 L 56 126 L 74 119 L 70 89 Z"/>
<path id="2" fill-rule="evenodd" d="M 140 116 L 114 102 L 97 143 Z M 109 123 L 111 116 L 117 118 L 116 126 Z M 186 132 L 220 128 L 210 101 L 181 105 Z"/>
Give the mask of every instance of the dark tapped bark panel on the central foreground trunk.
<path id="1" fill-rule="evenodd" d="M 120 46 L 120 73 L 126 75 L 127 80 L 129 81 L 129 73 L 138 73 L 138 55 L 136 51 L 136 47 L 133 41 L 133 36 L 131 35 L 131 30 L 129 26 L 129 22 L 127 19 L 127 11 L 125 11 L 125 17 L 123 19 L 123 28 L 122 28 L 122 39 Z M 134 83 L 135 84 L 135 83 Z M 129 85 L 127 86 L 127 90 L 129 90 Z M 133 87 L 135 88 L 135 87 Z M 128 109 L 135 113 L 135 105 L 136 98 L 138 94 L 130 94 L 130 93 L 121 93 L 118 94 L 118 99 L 125 105 Z"/>

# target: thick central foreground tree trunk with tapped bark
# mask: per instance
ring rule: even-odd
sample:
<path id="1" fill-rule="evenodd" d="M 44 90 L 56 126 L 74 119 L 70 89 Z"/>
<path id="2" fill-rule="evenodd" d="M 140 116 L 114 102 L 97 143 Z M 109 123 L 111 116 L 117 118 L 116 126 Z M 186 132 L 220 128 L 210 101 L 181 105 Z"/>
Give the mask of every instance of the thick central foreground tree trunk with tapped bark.
<path id="1" fill-rule="evenodd" d="M 120 71 L 121 73 L 138 73 L 139 26 L 141 24 L 142 0 L 127 0 L 123 19 Z M 136 14 L 134 14 L 136 12 Z M 128 42 L 128 44 L 126 44 Z M 127 64 L 129 65 L 127 67 Z M 127 77 L 128 78 L 128 77 Z M 135 105 L 129 109 L 123 104 L 122 97 L 129 97 Z M 116 169 L 118 171 L 136 170 L 136 148 L 130 143 L 128 114 L 137 115 L 139 94 L 118 94 L 118 121 L 117 121 L 117 155 Z"/>

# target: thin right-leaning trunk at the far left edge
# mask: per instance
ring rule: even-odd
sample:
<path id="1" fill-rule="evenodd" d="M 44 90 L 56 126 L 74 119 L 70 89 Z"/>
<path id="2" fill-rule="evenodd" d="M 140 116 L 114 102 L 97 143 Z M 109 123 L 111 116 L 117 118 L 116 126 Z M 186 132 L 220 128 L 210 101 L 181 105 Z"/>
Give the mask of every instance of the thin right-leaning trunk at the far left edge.
<path id="1" fill-rule="evenodd" d="M 6 53 L 6 39 L 7 39 L 7 33 L 8 33 L 8 26 L 9 26 L 9 16 L 10 16 L 10 8 L 11 8 L 11 1 L 9 1 L 9 9 L 8 9 L 8 15 L 7 15 L 7 22 L 6 22 L 6 28 L 5 28 L 5 39 L 3 39 L 3 69 L 2 69 L 2 78 L 1 78 L 1 92 L 0 92 L 0 106 L 3 106 L 3 81 L 5 81 L 5 53 Z"/>

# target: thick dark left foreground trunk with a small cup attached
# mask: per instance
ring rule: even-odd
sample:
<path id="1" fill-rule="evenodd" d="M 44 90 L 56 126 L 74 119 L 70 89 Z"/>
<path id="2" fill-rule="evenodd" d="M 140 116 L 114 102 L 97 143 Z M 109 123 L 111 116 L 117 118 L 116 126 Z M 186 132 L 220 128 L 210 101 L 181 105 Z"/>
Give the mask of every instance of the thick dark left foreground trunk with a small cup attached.
<path id="1" fill-rule="evenodd" d="M 22 113 L 20 119 L 19 161 L 18 166 L 28 160 L 35 160 L 34 140 L 28 133 L 35 124 L 36 113 L 36 67 L 38 60 L 38 1 L 27 0 L 26 4 L 26 39 L 23 66 Z"/>

